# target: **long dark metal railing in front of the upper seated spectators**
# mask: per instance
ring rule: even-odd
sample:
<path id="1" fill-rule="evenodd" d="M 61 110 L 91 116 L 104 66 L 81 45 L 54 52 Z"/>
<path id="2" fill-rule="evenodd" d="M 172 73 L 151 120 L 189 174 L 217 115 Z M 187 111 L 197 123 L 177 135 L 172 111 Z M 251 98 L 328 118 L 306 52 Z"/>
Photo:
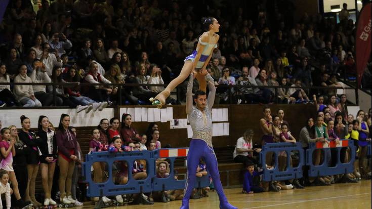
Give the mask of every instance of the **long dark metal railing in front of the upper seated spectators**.
<path id="1" fill-rule="evenodd" d="M 10 85 L 11 87 L 21 85 L 21 86 L 52 86 L 52 94 L 53 94 L 53 103 L 56 106 L 56 87 L 62 86 L 62 87 L 75 87 L 77 86 L 77 82 L 61 82 L 61 83 L 23 83 L 23 82 L 0 82 L 0 85 Z M 167 85 L 160 85 L 160 84 L 139 84 L 139 83 L 88 83 L 88 82 L 80 82 L 79 87 L 93 87 L 93 86 L 103 86 L 103 87 L 117 87 L 117 94 L 118 94 L 118 105 L 122 105 L 122 91 L 125 91 L 123 88 L 125 87 L 166 87 Z M 186 84 L 182 84 L 177 86 L 176 88 L 176 94 L 177 94 L 177 100 L 180 100 L 181 93 L 180 88 L 186 87 Z M 355 91 L 355 104 L 359 105 L 358 102 L 358 89 L 357 88 L 344 88 L 344 87 L 290 87 L 290 86 L 242 86 L 242 85 L 218 85 L 216 86 L 228 88 L 228 94 L 229 94 L 229 102 L 232 104 L 233 99 L 233 91 L 232 89 L 238 89 L 241 88 L 247 88 L 247 89 L 274 89 L 274 94 L 278 94 L 278 89 L 303 89 L 305 92 L 309 92 L 310 90 L 337 90 L 337 89 L 343 89 L 343 90 L 354 90 Z M 308 95 L 309 96 L 309 95 Z M 278 102 L 278 97 L 276 97 L 276 103 Z"/>

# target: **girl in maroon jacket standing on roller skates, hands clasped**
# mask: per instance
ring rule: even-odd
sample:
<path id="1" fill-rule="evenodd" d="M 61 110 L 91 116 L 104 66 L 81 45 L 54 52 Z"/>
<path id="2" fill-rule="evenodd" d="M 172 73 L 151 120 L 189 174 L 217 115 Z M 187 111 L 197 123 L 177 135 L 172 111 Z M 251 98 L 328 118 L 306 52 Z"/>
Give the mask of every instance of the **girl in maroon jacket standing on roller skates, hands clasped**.
<path id="1" fill-rule="evenodd" d="M 75 203 L 71 196 L 71 180 L 77 159 L 77 141 L 74 133 L 70 130 L 70 116 L 62 114 L 56 133 L 59 162 L 59 191 L 60 201 L 64 204 Z"/>

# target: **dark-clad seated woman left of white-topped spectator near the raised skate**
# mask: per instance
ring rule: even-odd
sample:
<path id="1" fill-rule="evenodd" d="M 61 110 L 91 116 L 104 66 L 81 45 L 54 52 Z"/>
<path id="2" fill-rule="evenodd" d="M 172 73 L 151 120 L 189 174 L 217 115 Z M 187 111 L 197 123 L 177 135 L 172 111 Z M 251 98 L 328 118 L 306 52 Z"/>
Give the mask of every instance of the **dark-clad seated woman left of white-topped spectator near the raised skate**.
<path id="1" fill-rule="evenodd" d="M 137 68 L 136 83 L 147 84 L 148 76 L 146 76 L 146 66 L 141 64 Z M 139 100 L 144 101 L 146 104 L 150 104 L 149 99 L 155 97 L 156 93 L 152 92 L 147 86 L 139 86 L 133 88 L 133 96 Z"/>

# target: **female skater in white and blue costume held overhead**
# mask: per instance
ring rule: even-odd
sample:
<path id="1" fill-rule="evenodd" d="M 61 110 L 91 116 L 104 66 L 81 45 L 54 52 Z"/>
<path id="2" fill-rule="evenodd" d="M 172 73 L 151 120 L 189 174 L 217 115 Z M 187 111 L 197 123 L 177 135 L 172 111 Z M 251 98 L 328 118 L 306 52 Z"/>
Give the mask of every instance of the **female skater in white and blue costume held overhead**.
<path id="1" fill-rule="evenodd" d="M 212 80 L 213 78 L 206 72 L 206 66 L 211 59 L 212 52 L 217 48 L 218 39 L 220 36 L 216 32 L 220 29 L 220 24 L 216 18 L 208 17 L 201 18 L 201 22 L 207 32 L 204 32 L 200 37 L 196 47 L 196 50 L 184 60 L 185 64 L 181 69 L 181 73 L 175 79 L 173 79 L 167 88 L 160 92 L 155 98 L 150 98 L 152 105 L 156 105 L 161 108 L 166 103 L 167 97 L 171 94 L 171 91 L 176 88 L 181 82 L 183 82 L 192 71 L 194 77 L 199 81 L 199 90 L 206 92 L 206 78 Z"/>

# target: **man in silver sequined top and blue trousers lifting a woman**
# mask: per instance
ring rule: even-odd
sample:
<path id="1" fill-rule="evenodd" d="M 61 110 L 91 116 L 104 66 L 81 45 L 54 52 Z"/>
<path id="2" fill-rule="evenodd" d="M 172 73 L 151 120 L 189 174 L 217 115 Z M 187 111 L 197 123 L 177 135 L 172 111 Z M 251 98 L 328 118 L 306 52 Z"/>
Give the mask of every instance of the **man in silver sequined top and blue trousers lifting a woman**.
<path id="1" fill-rule="evenodd" d="M 194 74 L 191 72 L 189 82 L 187 84 L 186 93 L 186 113 L 190 121 L 193 136 L 190 142 L 189 152 L 187 154 L 187 181 L 185 185 L 185 195 L 182 200 L 181 209 L 189 208 L 189 199 L 195 183 L 196 168 L 199 164 L 200 157 L 205 159 L 206 168 L 210 172 L 214 181 L 215 189 L 220 198 L 220 208 L 222 209 L 237 209 L 227 202 L 227 198 L 223 192 L 220 174 L 218 172 L 218 164 L 215 152 L 212 146 L 212 106 L 215 101 L 216 88 L 210 75 L 207 75 L 209 96 L 206 100 L 206 94 L 203 91 L 195 92 L 194 101 L 192 104 L 192 85 Z"/>

